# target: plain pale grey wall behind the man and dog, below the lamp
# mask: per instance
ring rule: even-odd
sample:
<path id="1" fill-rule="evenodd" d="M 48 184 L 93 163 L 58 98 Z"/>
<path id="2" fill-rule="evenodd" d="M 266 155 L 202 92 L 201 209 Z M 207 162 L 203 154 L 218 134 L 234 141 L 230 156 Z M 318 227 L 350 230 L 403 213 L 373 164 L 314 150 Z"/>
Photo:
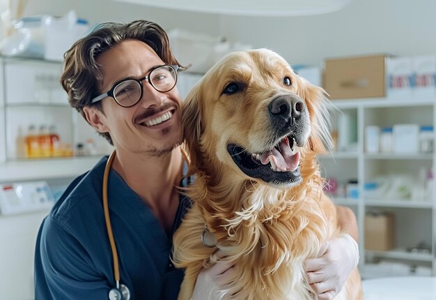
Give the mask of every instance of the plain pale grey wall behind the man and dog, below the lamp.
<path id="1" fill-rule="evenodd" d="M 113 0 L 29 0 L 26 15 L 63 15 L 70 9 L 91 23 L 142 18 L 167 30 L 180 27 L 221 35 L 269 47 L 292 64 L 372 53 L 436 54 L 435 0 L 352 0 L 336 13 L 309 17 L 217 16 Z"/>

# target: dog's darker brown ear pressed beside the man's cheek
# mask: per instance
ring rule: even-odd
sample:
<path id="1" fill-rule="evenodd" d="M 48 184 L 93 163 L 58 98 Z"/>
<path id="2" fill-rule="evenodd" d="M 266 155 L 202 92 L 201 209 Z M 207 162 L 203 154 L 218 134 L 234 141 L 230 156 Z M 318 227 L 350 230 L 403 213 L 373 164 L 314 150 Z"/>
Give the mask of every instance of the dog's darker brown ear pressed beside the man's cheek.
<path id="1" fill-rule="evenodd" d="M 200 103 L 198 102 L 199 95 L 200 91 L 197 85 L 189 92 L 182 108 L 183 137 L 189 154 L 190 167 L 194 167 L 194 170 L 198 170 L 200 167 L 198 165 L 201 161 L 200 137 L 203 132 Z"/>

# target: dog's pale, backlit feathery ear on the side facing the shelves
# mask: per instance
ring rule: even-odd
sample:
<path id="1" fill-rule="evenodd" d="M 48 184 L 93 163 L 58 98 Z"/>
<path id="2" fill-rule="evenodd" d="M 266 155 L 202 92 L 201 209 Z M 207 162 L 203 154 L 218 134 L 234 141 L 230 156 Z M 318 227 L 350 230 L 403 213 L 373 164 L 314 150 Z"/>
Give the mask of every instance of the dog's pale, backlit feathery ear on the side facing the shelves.
<path id="1" fill-rule="evenodd" d="M 321 87 L 311 84 L 302 78 L 299 84 L 299 96 L 304 100 L 311 117 L 312 133 L 309 138 L 311 151 L 324 152 L 325 149 L 332 149 L 331 130 L 332 125 L 329 119 L 327 92 Z"/>

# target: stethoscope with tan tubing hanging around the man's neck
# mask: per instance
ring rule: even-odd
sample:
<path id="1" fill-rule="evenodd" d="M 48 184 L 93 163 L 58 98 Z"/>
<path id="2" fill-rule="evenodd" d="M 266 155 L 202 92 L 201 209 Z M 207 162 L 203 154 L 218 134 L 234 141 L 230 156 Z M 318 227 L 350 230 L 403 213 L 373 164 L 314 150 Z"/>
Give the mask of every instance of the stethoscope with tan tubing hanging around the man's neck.
<path id="1" fill-rule="evenodd" d="M 109 300 L 129 300 L 130 290 L 123 284 L 120 284 L 120 265 L 118 263 L 118 252 L 116 250 L 114 233 L 112 232 L 111 218 L 109 216 L 109 204 L 107 202 L 107 181 L 109 179 L 109 171 L 111 170 L 112 162 L 114 161 L 116 151 L 109 156 L 103 174 L 103 210 L 104 220 L 106 221 L 107 235 L 111 244 L 112 259 L 114 260 L 114 278 L 116 286 L 109 291 Z"/>

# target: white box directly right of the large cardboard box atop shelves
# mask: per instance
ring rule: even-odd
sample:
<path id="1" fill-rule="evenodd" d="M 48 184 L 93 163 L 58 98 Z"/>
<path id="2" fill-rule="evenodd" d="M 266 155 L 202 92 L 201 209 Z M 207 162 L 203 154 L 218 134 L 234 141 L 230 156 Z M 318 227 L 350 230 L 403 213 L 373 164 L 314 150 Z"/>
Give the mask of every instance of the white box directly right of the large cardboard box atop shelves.
<path id="1" fill-rule="evenodd" d="M 388 98 L 410 100 L 413 96 L 413 71 L 412 57 L 389 57 L 387 59 Z"/>

